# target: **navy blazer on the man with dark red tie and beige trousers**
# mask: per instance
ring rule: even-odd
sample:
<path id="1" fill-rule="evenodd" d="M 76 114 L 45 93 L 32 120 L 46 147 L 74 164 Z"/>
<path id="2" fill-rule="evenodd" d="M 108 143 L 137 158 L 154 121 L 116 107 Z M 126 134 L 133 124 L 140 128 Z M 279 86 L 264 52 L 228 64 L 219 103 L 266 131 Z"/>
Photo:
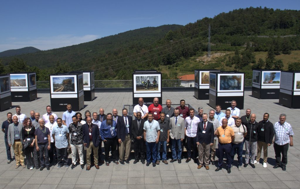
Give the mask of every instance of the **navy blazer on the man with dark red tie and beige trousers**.
<path id="1" fill-rule="evenodd" d="M 214 125 L 208 121 L 207 126 L 205 128 L 205 133 L 202 132 L 204 131 L 203 127 L 204 127 L 203 121 L 199 122 L 197 128 L 196 142 L 199 143 L 205 142 L 205 144 L 214 143 Z"/>

